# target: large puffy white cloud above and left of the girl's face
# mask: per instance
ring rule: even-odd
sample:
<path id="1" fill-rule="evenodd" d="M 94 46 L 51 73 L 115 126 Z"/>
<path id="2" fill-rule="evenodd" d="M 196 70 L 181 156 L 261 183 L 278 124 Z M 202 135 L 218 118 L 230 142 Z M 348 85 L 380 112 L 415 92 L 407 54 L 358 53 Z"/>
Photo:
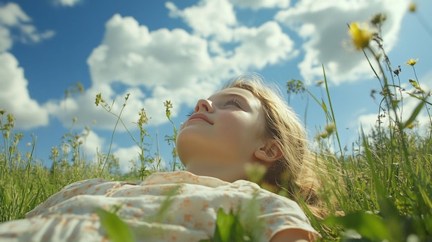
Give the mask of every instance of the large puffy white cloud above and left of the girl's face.
<path id="1" fill-rule="evenodd" d="M 88 58 L 94 83 L 121 81 L 127 85 L 195 83 L 211 68 L 204 39 L 181 29 L 148 32 L 132 17 L 115 14 L 106 24 L 100 46 Z"/>

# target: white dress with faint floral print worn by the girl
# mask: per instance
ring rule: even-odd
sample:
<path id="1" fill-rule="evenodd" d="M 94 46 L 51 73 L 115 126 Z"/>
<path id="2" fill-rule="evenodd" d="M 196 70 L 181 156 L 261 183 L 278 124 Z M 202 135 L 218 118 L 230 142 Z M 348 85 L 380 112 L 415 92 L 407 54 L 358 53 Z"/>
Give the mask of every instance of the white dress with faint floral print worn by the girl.
<path id="1" fill-rule="evenodd" d="M 306 230 L 311 241 L 320 236 L 290 199 L 249 181 L 228 183 L 179 171 L 153 173 L 134 183 L 72 183 L 28 212 L 26 219 L 1 223 L 0 241 L 109 241 L 96 208 L 118 208 L 117 216 L 130 226 L 136 241 L 210 239 L 220 208 L 240 214 L 256 241 L 269 241 L 291 228 Z"/>

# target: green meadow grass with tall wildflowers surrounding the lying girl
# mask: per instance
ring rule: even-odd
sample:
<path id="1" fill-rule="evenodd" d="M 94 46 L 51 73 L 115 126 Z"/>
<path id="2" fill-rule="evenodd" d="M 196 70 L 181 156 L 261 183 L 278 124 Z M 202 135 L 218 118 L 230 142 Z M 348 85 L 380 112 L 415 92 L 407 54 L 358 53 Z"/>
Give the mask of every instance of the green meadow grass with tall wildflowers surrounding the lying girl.
<path id="1" fill-rule="evenodd" d="M 377 127 L 360 132 L 353 141 L 356 148 L 348 150 L 340 144 L 325 63 L 322 85 L 326 97 L 315 97 L 300 80 L 291 79 L 286 83 L 289 94 L 309 95 L 326 115 L 327 122 L 317 132 L 315 142 L 319 147 L 317 160 L 324 161 L 326 170 L 322 173 L 321 196 L 326 201 L 323 206 L 328 208 L 328 216 L 315 219 L 300 201 L 314 228 L 322 234 L 322 241 L 432 241 L 431 90 L 424 90 L 418 79 L 409 80 L 415 92 L 408 93 L 402 88 L 405 79 L 400 69 L 391 65 L 382 46 L 380 29 L 385 19 L 385 14 L 375 15 L 366 23 L 371 29 L 359 23 L 348 26 L 353 48 L 364 53 L 381 87 L 377 92 L 380 103 Z M 422 63 L 409 58 L 406 65 L 415 74 L 415 65 Z M 408 98 L 416 99 L 418 105 L 414 110 L 404 111 L 404 99 Z M 121 112 L 112 113 L 101 94 L 95 103 L 117 117 L 115 132 L 122 123 Z M 170 101 L 164 104 L 167 119 L 171 121 L 173 104 Z M 123 108 L 128 107 L 124 105 Z M 429 115 L 429 123 L 422 126 L 417 121 L 421 112 Z M 99 153 L 97 162 L 86 160 L 81 151 L 81 138 L 86 134 L 64 134 L 61 144 L 51 150 L 52 165 L 44 166 L 33 156 L 35 143 L 30 145 L 30 151 L 19 150 L 23 134 L 14 128 L 13 110 L 0 110 L 0 223 L 23 218 L 26 212 L 75 181 L 95 177 L 136 181 L 167 169 L 161 168 L 157 155 L 149 155 L 147 121 L 146 112 L 140 110 L 136 123 L 139 137 L 132 134 L 130 137 L 141 148 L 141 156 L 137 165 L 124 174 L 119 170 L 118 159 L 109 151 Z M 168 170 L 181 169 L 175 152 L 176 134 L 173 125 L 173 135 L 166 137 L 166 142 L 173 147 L 172 167 Z M 131 241 L 128 228 L 115 212 L 99 211 L 99 216 L 108 232 L 115 230 L 111 233 L 114 234 L 112 241 Z M 226 234 L 215 236 L 214 241 L 243 241 L 244 236 L 235 235 L 239 230 L 231 229 L 236 226 L 235 216 L 237 214 L 218 214 L 218 224 L 228 229 L 223 231 Z M 117 226 L 113 228 L 112 224 Z"/>

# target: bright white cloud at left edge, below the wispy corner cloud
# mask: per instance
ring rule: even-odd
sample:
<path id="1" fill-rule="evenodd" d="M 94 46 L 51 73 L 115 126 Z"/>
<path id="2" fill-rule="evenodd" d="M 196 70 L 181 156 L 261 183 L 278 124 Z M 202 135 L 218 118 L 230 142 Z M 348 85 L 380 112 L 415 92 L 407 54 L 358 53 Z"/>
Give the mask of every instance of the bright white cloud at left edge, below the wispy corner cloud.
<path id="1" fill-rule="evenodd" d="M 0 53 L 0 109 L 14 114 L 19 128 L 35 128 L 48 124 L 48 112 L 30 98 L 23 68 L 15 57 Z"/>

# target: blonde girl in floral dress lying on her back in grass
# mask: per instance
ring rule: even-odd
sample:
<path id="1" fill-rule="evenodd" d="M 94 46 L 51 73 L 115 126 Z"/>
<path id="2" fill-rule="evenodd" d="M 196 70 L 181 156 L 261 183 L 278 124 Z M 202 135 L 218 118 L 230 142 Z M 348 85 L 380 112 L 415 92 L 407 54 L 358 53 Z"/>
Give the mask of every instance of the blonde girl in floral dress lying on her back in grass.
<path id="1" fill-rule="evenodd" d="M 0 240 L 108 241 L 97 208 L 115 211 L 136 241 L 212 241 L 218 216 L 230 212 L 245 241 L 320 238 L 295 201 L 247 181 L 247 167 L 265 167 L 266 185 L 285 184 L 293 199 L 300 194 L 315 216 L 322 214 L 304 127 L 257 76 L 197 101 L 177 135 L 177 152 L 186 171 L 156 172 L 135 183 L 72 183 L 27 219 L 2 223 Z"/>

